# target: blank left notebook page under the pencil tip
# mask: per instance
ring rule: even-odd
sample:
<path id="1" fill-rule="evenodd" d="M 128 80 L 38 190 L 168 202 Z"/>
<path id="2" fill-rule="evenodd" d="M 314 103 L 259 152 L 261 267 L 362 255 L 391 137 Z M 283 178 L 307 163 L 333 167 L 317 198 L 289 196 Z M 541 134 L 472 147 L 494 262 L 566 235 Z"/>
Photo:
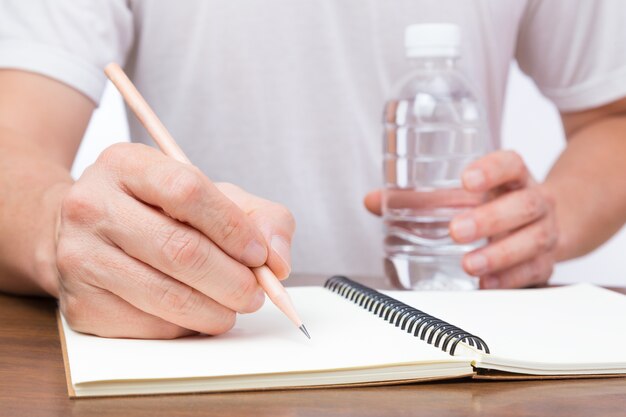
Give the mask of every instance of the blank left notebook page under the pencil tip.
<path id="1" fill-rule="evenodd" d="M 311 340 L 269 300 L 259 312 L 239 316 L 230 332 L 217 337 L 105 339 L 74 332 L 63 321 L 72 382 L 467 362 L 324 288 L 290 288 L 289 293 Z"/>

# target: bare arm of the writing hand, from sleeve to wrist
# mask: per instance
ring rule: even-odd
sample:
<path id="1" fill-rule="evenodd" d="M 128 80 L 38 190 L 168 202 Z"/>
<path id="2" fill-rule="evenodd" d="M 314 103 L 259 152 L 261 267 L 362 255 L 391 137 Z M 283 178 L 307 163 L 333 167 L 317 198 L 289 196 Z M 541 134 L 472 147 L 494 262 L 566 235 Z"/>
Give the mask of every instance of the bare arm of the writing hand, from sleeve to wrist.
<path id="1" fill-rule="evenodd" d="M 94 109 L 71 87 L 0 70 L 0 291 L 57 295 L 55 222 Z"/>

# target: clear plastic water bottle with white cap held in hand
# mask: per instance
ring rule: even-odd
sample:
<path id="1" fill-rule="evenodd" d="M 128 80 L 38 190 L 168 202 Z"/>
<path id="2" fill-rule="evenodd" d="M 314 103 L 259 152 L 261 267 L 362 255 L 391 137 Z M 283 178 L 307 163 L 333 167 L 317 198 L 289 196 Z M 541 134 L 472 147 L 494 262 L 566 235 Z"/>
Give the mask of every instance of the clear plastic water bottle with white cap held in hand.
<path id="1" fill-rule="evenodd" d="M 456 244 L 448 229 L 484 201 L 462 189 L 461 174 L 490 143 L 482 106 L 457 67 L 460 40 L 452 24 L 407 27 L 412 71 L 385 105 L 385 271 L 400 288 L 478 287 L 461 261 L 484 242 Z"/>

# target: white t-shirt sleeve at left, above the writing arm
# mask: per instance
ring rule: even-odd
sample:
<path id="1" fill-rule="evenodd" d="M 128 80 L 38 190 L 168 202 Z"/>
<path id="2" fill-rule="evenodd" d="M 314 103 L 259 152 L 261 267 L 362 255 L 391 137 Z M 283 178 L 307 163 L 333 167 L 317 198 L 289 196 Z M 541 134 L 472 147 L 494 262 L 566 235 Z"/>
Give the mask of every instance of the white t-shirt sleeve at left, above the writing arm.
<path id="1" fill-rule="evenodd" d="M 124 0 L 0 1 L 0 68 L 61 81 L 99 103 L 111 61 L 124 65 L 132 44 Z"/>

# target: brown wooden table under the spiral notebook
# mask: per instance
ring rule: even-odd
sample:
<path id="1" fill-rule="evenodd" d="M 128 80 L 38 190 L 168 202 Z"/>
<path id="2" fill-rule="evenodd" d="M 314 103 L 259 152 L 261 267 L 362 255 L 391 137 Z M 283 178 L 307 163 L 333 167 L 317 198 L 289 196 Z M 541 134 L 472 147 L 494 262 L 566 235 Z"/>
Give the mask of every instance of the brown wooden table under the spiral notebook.
<path id="1" fill-rule="evenodd" d="M 0 416 L 626 416 L 626 378 L 70 400 L 55 309 L 53 300 L 0 294 Z"/>

